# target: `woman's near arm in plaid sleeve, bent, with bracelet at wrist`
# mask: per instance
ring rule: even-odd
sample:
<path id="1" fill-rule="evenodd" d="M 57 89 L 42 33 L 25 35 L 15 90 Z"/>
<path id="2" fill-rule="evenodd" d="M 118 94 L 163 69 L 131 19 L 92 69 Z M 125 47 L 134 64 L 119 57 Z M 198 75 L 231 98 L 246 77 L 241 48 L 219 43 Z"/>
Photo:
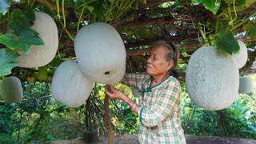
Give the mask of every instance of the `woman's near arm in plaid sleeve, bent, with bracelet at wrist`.
<path id="1" fill-rule="evenodd" d="M 166 89 L 162 91 L 162 95 L 159 96 L 158 102 L 150 110 L 144 106 L 138 106 L 133 102 L 126 94 L 116 90 L 114 86 L 106 86 L 106 94 L 111 99 L 120 99 L 126 102 L 128 106 L 138 115 L 140 122 L 149 127 L 157 126 L 167 116 L 169 116 L 174 109 L 174 106 L 178 104 L 180 99 L 180 84 L 178 81 L 172 82 L 170 86 L 166 86 Z"/>

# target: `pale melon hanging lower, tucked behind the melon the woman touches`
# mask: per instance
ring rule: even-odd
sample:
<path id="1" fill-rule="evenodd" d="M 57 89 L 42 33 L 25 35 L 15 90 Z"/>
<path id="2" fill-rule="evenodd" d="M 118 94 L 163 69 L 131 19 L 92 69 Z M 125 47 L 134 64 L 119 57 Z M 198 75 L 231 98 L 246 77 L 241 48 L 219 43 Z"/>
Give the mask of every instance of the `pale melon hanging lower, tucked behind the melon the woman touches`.
<path id="1" fill-rule="evenodd" d="M 94 82 L 82 74 L 77 62 L 65 61 L 54 72 L 51 92 L 56 101 L 78 107 L 89 98 L 93 85 Z"/>

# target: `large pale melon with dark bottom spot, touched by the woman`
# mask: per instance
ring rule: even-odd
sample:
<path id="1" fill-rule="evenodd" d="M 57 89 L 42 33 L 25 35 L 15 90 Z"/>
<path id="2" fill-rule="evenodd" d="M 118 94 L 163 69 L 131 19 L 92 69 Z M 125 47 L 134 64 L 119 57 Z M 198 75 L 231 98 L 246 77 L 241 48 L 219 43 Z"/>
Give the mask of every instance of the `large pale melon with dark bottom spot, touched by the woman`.
<path id="1" fill-rule="evenodd" d="M 78 31 L 74 42 L 78 65 L 94 82 L 114 85 L 126 70 L 126 49 L 113 26 L 96 22 Z"/>

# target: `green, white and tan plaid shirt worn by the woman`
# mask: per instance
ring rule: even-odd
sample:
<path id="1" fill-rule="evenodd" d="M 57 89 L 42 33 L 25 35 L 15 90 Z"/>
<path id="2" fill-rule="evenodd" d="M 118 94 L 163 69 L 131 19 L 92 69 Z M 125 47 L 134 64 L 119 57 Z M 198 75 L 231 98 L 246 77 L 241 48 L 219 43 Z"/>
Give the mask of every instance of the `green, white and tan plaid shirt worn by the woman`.
<path id="1" fill-rule="evenodd" d="M 126 74 L 122 82 L 138 89 L 140 143 L 186 143 L 181 126 L 181 86 L 172 76 L 150 87 L 153 77 L 146 73 Z"/>

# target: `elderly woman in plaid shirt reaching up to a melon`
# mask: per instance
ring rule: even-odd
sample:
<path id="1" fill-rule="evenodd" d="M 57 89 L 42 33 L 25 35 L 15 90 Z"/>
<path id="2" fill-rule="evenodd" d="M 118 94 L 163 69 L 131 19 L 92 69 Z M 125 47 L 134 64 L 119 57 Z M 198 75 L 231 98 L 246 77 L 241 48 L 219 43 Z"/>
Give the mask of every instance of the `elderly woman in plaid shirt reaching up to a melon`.
<path id="1" fill-rule="evenodd" d="M 111 99 L 120 99 L 138 115 L 140 143 L 186 143 L 181 126 L 181 86 L 170 75 L 178 64 L 178 50 L 171 43 L 157 42 L 150 50 L 146 73 L 126 74 L 122 82 L 138 89 L 140 105 L 126 94 L 106 86 Z"/>

